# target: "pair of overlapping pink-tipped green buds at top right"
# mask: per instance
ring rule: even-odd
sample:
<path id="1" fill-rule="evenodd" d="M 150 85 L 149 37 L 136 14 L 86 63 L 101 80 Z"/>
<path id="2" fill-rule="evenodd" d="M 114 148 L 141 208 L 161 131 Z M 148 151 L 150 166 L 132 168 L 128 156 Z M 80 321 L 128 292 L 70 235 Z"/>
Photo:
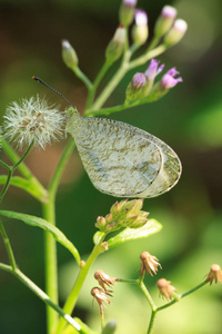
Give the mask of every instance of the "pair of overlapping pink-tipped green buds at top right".
<path id="1" fill-rule="evenodd" d="M 157 38 L 163 37 L 163 43 L 172 47 L 184 36 L 188 24 L 184 20 L 178 19 L 176 9 L 171 6 L 164 6 L 154 27 Z"/>

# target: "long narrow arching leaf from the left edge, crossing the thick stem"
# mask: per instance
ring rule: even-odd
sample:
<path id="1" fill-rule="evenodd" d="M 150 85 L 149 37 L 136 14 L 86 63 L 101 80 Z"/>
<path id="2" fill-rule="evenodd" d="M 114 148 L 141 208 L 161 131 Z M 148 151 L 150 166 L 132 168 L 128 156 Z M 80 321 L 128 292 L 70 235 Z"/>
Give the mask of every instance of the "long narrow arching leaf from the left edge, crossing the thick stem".
<path id="1" fill-rule="evenodd" d="M 51 223 L 36 216 L 30 216 L 14 212 L 0 210 L 0 215 L 12 219 L 19 219 L 28 225 L 37 226 L 47 232 L 50 232 L 54 239 L 59 242 L 62 246 L 68 248 L 77 259 L 77 263 L 80 264 L 80 255 L 74 245 L 65 237 L 65 235 L 59 228 L 57 228 Z"/>

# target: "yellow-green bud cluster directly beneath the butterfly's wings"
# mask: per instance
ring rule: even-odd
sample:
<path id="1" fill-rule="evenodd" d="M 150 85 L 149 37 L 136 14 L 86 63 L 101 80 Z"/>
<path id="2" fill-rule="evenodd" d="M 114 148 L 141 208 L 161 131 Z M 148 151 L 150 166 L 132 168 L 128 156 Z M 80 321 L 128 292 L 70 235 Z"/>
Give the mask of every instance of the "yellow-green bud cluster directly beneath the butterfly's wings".
<path id="1" fill-rule="evenodd" d="M 147 216 L 149 215 L 149 213 L 141 210 L 142 205 L 142 199 L 117 202 L 105 217 L 98 217 L 95 226 L 104 233 L 117 230 L 121 227 L 142 227 L 148 223 Z"/>

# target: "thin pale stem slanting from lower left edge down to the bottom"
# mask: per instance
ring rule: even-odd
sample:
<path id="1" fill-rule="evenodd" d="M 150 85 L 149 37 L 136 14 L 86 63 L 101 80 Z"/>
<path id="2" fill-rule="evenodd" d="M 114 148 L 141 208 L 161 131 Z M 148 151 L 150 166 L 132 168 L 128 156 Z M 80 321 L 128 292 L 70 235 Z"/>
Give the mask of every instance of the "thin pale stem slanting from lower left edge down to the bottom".
<path id="1" fill-rule="evenodd" d="M 72 327 L 74 327 L 79 333 L 84 333 L 81 330 L 81 326 L 68 314 L 65 314 L 57 304 L 54 304 L 50 297 L 39 288 L 29 277 L 27 277 L 18 268 L 13 269 L 11 266 L 0 263 L 0 268 L 14 275 L 20 282 L 22 282 L 29 289 L 31 289 L 40 299 L 42 299 L 48 306 L 53 308 L 57 313 L 60 314 Z"/>

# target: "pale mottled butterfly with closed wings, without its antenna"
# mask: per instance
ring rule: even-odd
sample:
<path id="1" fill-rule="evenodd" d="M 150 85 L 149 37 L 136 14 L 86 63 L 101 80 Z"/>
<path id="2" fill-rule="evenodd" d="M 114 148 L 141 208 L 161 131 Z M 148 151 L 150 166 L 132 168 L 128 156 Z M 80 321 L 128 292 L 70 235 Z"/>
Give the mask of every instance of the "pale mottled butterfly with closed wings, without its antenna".
<path id="1" fill-rule="evenodd" d="M 115 197 L 154 197 L 181 176 L 178 155 L 159 138 L 122 121 L 81 117 L 67 110 L 67 132 L 74 138 L 95 188 Z"/>

